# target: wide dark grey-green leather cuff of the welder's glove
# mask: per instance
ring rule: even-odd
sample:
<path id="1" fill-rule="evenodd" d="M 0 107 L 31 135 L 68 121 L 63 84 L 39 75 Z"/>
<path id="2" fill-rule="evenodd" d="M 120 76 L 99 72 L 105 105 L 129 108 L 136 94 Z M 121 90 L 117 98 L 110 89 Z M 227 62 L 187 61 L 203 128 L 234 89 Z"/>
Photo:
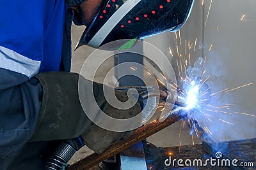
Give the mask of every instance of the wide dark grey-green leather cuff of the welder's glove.
<path id="1" fill-rule="evenodd" d="M 42 106 L 31 141 L 77 138 L 91 127 L 78 96 L 79 74 L 47 72 L 36 75 L 43 87 Z"/>

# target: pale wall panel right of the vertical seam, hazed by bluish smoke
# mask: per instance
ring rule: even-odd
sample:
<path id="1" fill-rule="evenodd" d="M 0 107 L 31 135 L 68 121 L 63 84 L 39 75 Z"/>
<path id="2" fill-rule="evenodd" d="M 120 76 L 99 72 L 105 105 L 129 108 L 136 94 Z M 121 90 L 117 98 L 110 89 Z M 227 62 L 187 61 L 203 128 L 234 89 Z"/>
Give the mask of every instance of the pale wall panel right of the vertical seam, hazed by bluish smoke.
<path id="1" fill-rule="evenodd" d="M 205 1 L 205 19 L 211 1 Z M 256 1 L 215 0 L 212 1 L 207 23 L 204 27 L 204 55 L 208 62 L 212 92 L 234 88 L 246 83 L 256 83 Z M 244 15 L 244 20 L 241 18 Z M 218 28 L 218 30 L 217 30 Z M 212 49 L 209 51 L 209 46 Z M 223 129 L 215 129 L 224 139 L 244 139 L 256 137 L 256 118 L 239 115 L 243 112 L 256 115 L 256 84 L 222 93 L 213 99 L 216 103 L 234 104 L 226 118 L 233 125 L 219 124 Z M 214 131 L 214 127 L 212 127 Z"/>

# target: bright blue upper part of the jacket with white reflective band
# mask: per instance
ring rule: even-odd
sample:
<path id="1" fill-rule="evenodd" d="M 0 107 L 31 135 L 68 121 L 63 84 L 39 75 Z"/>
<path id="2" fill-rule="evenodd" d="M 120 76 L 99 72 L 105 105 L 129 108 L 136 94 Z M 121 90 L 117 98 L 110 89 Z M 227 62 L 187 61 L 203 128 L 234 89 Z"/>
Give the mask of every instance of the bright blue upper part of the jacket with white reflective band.
<path id="1" fill-rule="evenodd" d="M 0 4 L 0 67 L 31 78 L 59 71 L 67 6 L 64 0 Z"/>

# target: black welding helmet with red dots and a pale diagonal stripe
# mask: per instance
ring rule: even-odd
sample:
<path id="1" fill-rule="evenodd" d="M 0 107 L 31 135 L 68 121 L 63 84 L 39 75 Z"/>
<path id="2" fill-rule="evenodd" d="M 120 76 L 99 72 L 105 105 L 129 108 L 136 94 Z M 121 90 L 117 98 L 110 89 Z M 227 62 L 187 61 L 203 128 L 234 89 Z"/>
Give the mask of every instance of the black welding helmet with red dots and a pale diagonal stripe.
<path id="1" fill-rule="evenodd" d="M 195 0 L 102 0 L 77 43 L 98 48 L 118 39 L 143 39 L 185 24 Z"/>

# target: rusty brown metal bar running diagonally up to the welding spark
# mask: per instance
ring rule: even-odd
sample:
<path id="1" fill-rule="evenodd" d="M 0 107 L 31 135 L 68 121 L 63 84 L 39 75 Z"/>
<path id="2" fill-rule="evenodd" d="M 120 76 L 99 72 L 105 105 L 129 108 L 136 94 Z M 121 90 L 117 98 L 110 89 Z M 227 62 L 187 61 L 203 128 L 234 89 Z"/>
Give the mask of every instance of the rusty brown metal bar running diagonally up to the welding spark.
<path id="1" fill-rule="evenodd" d="M 78 162 L 68 166 L 67 170 L 82 170 L 82 169 L 89 169 L 90 167 L 99 164 L 103 160 L 112 157 L 116 153 L 122 152 L 123 150 L 129 148 L 130 146 L 142 141 L 148 136 L 155 134 L 156 132 L 161 131 L 165 127 L 174 124 L 175 122 L 179 121 L 181 118 L 184 118 L 186 114 L 184 114 L 184 109 L 176 108 L 173 110 L 169 117 L 166 118 L 163 122 L 159 122 L 158 120 L 154 120 L 149 124 L 143 125 L 142 127 L 136 129 L 134 133 L 125 141 L 117 141 L 116 143 L 111 144 L 104 152 L 101 154 L 92 153 L 92 155 L 88 155 L 84 159 L 79 160 Z"/>

